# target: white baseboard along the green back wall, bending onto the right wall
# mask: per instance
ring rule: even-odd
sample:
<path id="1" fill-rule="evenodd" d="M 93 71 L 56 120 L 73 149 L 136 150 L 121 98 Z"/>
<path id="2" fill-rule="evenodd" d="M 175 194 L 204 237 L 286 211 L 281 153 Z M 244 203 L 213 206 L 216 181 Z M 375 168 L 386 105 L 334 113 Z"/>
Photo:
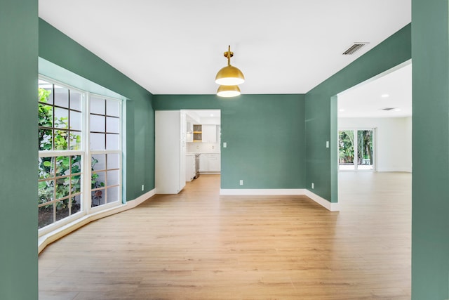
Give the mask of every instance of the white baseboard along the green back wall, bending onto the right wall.
<path id="1" fill-rule="evenodd" d="M 339 211 L 340 205 L 338 203 L 331 203 L 328 200 L 312 193 L 304 188 L 288 188 L 288 189 L 222 189 L 220 188 L 220 195 L 306 195 L 314 202 L 325 207 L 329 211 Z"/>

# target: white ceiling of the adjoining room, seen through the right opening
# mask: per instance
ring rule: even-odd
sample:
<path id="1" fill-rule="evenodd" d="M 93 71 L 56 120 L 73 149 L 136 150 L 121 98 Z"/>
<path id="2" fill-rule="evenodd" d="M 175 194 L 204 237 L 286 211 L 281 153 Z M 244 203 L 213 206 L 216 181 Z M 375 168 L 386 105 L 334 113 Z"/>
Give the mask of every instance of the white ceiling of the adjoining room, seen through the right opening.
<path id="1" fill-rule="evenodd" d="M 412 64 L 382 74 L 338 95 L 338 117 L 410 117 Z M 391 110 L 383 110 L 392 108 Z"/>

